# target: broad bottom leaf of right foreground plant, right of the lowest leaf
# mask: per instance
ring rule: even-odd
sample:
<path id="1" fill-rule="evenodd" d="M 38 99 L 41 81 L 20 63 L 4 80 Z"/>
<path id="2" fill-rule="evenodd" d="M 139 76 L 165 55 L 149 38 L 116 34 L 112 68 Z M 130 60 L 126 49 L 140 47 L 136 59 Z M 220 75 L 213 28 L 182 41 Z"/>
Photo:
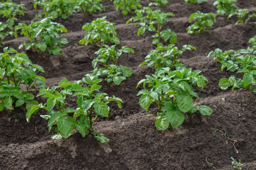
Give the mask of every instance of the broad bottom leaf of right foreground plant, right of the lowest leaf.
<path id="1" fill-rule="evenodd" d="M 185 119 L 185 116 L 183 113 L 181 113 L 178 109 L 173 109 L 170 111 L 165 112 L 165 116 L 167 120 L 170 122 L 172 128 L 179 127 Z"/>

